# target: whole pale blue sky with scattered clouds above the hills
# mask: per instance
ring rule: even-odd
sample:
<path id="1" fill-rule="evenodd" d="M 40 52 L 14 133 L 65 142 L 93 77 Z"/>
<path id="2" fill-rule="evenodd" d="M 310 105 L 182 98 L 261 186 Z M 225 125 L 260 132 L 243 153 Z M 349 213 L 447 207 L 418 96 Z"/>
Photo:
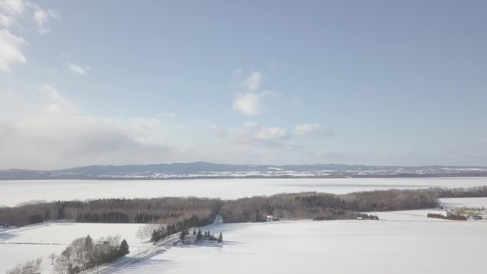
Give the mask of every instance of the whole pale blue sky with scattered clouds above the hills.
<path id="1" fill-rule="evenodd" d="M 0 169 L 487 165 L 486 1 L 0 0 Z"/>

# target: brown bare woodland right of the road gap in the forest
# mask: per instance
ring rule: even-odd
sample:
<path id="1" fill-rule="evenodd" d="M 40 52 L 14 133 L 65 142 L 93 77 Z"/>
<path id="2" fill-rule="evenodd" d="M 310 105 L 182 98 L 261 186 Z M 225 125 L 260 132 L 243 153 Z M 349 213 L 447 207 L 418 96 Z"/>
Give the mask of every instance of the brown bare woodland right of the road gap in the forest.
<path id="1" fill-rule="evenodd" d="M 303 192 L 225 201 L 220 213 L 226 223 L 261 222 L 266 221 L 268 215 L 285 219 L 377 219 L 377 216 L 362 212 L 426 209 L 437 205 L 438 194 L 431 189 L 391 189 L 343 195 Z"/>

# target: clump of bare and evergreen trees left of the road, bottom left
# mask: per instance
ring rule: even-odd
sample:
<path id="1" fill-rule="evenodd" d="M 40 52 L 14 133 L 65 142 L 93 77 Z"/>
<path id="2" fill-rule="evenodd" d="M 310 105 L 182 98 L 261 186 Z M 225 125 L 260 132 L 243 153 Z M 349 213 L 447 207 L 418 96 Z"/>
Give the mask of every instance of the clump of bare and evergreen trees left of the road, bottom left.
<path id="1" fill-rule="evenodd" d="M 110 263 L 130 253 L 127 241 L 120 242 L 120 236 L 108 236 L 98 241 L 88 235 L 75 239 L 60 255 L 50 255 L 56 258 L 54 269 L 59 274 L 85 273 L 104 263 Z"/>

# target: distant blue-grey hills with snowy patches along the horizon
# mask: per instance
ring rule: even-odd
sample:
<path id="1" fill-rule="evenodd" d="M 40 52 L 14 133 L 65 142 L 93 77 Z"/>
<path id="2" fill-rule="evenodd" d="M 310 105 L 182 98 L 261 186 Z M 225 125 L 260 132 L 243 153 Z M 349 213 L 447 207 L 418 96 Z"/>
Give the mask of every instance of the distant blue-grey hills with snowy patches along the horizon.
<path id="1" fill-rule="evenodd" d="M 347 164 L 253 165 L 209 162 L 87 166 L 59 170 L 0 170 L 0 180 L 41 179 L 216 179 L 487 176 L 487 167 L 366 166 Z"/>

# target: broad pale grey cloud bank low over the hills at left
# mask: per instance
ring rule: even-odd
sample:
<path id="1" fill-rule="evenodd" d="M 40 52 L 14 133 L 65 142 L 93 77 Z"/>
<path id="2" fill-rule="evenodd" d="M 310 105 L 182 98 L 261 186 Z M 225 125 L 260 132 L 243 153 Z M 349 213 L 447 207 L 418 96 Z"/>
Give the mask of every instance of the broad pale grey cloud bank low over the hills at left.
<path id="1" fill-rule="evenodd" d="M 53 103 L 19 122 L 0 120 L 0 167 L 58 169 L 190 158 L 184 149 L 174 147 L 168 130 L 155 118 L 68 114 Z"/>

